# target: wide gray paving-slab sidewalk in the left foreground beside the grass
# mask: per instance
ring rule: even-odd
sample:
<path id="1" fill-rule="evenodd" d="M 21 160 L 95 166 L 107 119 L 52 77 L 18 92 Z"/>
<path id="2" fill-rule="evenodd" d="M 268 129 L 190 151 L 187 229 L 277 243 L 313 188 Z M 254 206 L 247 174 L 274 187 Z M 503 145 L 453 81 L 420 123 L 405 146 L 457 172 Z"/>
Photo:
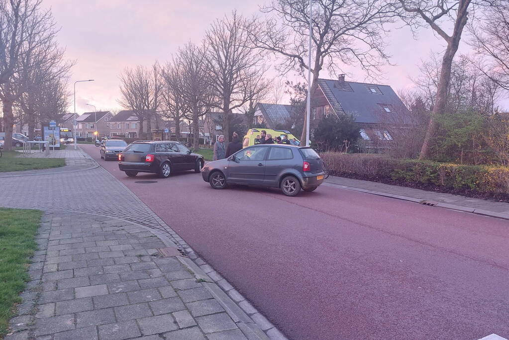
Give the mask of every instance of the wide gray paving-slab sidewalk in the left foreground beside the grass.
<path id="1" fill-rule="evenodd" d="M 37 241 L 6 340 L 246 338 L 202 280 L 163 257 L 158 249 L 167 245 L 142 226 L 50 212 Z"/>

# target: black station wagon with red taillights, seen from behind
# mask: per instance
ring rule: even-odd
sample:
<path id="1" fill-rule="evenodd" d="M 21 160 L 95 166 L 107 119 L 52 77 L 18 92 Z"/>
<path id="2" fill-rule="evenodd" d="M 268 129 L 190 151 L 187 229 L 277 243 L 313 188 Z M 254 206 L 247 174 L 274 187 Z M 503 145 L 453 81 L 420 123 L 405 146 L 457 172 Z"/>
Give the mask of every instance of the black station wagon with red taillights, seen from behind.
<path id="1" fill-rule="evenodd" d="M 187 170 L 199 173 L 204 163 L 202 155 L 176 141 L 135 141 L 119 154 L 119 169 L 130 177 L 153 173 L 167 178 Z"/>

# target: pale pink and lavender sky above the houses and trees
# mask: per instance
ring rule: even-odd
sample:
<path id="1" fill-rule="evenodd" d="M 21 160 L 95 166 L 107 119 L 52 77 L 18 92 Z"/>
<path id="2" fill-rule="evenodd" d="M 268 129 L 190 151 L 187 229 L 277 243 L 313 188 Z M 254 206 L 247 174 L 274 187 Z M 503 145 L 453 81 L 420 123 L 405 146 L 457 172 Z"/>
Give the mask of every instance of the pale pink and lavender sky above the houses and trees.
<path id="1" fill-rule="evenodd" d="M 265 0 L 43 0 L 51 8 L 57 26 L 58 41 L 66 48 L 66 57 L 74 60 L 69 86 L 76 80 L 94 79 L 76 84 L 76 112 L 122 109 L 119 74 L 126 67 L 150 66 L 154 61 L 165 63 L 179 46 L 188 41 L 199 43 L 209 25 L 225 13 L 236 9 L 251 16 L 260 14 Z M 376 80 L 389 84 L 395 91 L 413 86 L 410 77 L 418 75 L 418 66 L 432 52 L 444 49 L 443 40 L 431 29 L 418 32 L 415 40 L 407 27 L 394 25 L 387 39 L 390 63 Z M 467 53 L 463 42 L 459 53 Z M 347 80 L 364 81 L 358 68 L 346 68 L 352 73 Z M 320 77 L 335 78 L 322 71 Z M 269 76 L 278 76 L 272 71 Z M 296 75 L 282 77 L 295 80 Z M 509 106 L 509 101 L 504 101 Z M 73 100 L 69 111 L 73 112 Z"/>

